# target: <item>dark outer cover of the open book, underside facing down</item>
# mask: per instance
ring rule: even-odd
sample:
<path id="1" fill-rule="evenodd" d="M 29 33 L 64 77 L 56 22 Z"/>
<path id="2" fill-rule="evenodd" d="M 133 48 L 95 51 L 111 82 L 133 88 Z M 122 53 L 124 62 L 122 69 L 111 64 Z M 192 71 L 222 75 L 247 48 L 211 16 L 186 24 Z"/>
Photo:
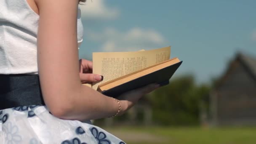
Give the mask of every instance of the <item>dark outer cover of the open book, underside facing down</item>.
<path id="1" fill-rule="evenodd" d="M 159 83 L 161 86 L 168 85 L 170 78 L 173 76 L 174 72 L 179 68 L 181 63 L 182 61 L 171 66 L 165 67 L 163 69 L 159 69 L 155 72 L 149 73 L 148 75 L 144 75 L 137 79 L 131 80 L 127 83 L 123 83 L 109 90 L 102 91 L 102 93 L 106 96 L 117 97 L 126 91 L 141 88 L 151 83 Z"/>

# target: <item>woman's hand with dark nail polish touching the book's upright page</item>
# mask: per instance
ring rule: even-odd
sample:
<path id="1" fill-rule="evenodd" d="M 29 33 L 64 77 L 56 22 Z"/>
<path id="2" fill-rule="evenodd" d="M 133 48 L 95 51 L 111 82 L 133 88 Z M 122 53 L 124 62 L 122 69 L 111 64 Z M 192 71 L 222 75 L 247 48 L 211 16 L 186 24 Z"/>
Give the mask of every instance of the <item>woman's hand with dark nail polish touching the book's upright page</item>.
<path id="1" fill-rule="evenodd" d="M 93 71 L 93 63 L 92 61 L 88 61 L 86 59 L 80 59 L 80 80 L 82 83 L 84 82 L 98 82 L 103 80 L 102 75 L 92 74 Z"/>

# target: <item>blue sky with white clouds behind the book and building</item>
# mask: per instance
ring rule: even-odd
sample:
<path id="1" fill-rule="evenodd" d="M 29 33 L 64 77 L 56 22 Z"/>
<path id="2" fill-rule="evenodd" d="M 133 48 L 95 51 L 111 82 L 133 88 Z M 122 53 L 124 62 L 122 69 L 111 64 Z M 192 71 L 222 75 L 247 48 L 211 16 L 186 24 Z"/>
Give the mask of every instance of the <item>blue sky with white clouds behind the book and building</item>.
<path id="1" fill-rule="evenodd" d="M 80 58 L 172 46 L 175 75 L 219 77 L 237 51 L 256 57 L 255 0 L 87 0 Z"/>

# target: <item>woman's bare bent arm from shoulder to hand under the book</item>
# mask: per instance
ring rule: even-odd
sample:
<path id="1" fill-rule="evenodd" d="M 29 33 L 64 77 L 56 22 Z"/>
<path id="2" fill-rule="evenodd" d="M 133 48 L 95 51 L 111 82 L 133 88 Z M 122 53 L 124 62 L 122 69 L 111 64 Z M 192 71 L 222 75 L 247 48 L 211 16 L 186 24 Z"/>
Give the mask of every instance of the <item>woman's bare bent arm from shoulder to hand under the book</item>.
<path id="1" fill-rule="evenodd" d="M 35 0 L 39 9 L 37 59 L 43 99 L 53 115 L 89 120 L 115 115 L 119 105 L 110 97 L 81 85 L 77 50 L 78 0 Z M 125 111 L 154 86 L 134 91 L 121 101 Z"/>

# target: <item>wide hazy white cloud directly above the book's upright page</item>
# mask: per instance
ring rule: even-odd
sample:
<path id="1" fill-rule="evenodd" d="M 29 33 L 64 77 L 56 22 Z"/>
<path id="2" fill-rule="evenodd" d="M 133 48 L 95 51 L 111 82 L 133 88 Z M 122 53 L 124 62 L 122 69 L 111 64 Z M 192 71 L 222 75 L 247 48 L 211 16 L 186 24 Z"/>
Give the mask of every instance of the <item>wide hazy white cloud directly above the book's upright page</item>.
<path id="1" fill-rule="evenodd" d="M 114 28 L 106 28 L 103 32 L 85 30 L 89 40 L 103 43 L 102 51 L 138 51 L 166 43 L 164 37 L 153 29 L 132 28 L 120 32 Z"/>

